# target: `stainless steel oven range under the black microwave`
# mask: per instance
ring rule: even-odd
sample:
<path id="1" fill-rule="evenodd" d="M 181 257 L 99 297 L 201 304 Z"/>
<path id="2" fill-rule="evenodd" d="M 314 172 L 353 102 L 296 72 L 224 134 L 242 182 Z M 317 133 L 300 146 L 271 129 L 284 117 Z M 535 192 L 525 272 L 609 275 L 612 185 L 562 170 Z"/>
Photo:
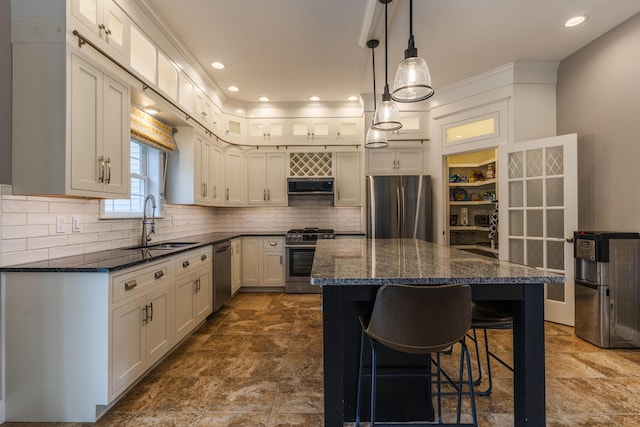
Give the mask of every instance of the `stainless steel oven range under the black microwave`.
<path id="1" fill-rule="evenodd" d="M 331 229 L 308 227 L 287 231 L 285 247 L 285 292 L 290 294 L 319 294 L 321 289 L 309 283 L 313 255 L 318 239 L 335 239 Z"/>

